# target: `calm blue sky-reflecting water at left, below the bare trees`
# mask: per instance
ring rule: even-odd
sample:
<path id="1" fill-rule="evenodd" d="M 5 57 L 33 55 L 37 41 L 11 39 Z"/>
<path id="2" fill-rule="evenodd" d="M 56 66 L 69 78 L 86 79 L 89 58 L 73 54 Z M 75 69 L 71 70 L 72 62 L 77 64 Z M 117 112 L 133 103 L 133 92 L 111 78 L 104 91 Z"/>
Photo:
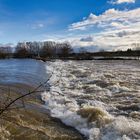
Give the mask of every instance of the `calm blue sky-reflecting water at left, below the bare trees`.
<path id="1" fill-rule="evenodd" d="M 0 83 L 36 86 L 47 79 L 45 65 L 32 59 L 0 60 Z"/>

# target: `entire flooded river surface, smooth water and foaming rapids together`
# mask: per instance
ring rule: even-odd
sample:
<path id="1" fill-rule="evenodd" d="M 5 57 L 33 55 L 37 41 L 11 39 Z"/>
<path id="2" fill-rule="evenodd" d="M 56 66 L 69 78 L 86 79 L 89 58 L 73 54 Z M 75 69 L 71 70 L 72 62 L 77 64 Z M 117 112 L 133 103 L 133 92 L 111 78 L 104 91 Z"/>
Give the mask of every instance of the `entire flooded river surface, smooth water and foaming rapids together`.
<path id="1" fill-rule="evenodd" d="M 139 60 L 0 60 L 1 101 L 9 88 L 15 98 L 50 75 L 49 91 L 5 113 L 1 139 L 140 140 Z"/>

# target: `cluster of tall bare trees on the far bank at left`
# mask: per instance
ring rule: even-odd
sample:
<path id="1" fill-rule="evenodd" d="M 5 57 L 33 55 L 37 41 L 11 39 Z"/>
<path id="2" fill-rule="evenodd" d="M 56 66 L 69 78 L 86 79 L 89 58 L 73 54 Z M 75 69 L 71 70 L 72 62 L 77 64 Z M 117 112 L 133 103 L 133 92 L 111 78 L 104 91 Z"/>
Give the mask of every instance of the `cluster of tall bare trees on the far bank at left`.
<path id="1" fill-rule="evenodd" d="M 72 53 L 68 42 L 19 42 L 13 49 L 0 47 L 0 58 L 56 59 L 69 57 Z"/>

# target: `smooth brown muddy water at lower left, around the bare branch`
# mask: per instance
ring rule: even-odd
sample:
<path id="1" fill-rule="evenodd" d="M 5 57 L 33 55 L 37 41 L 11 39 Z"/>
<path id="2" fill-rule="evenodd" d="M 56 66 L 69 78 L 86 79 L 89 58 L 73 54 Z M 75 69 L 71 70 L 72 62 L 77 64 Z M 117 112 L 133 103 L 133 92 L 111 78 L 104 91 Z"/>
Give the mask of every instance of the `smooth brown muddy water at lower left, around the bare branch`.
<path id="1" fill-rule="evenodd" d="M 0 103 L 8 103 L 32 91 L 27 84 L 0 84 Z M 17 109 L 17 107 L 19 109 Z M 11 106 L 0 117 L 1 140 L 83 140 L 83 136 L 72 127 L 64 125 L 59 119 L 50 116 L 44 107 L 40 93 L 33 94 Z"/>

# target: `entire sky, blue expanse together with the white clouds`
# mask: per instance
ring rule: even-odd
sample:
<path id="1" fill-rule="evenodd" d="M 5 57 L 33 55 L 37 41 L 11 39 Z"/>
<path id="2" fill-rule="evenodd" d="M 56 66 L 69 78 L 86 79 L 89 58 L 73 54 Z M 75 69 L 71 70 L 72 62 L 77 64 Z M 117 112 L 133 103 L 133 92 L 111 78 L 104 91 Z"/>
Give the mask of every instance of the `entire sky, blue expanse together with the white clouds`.
<path id="1" fill-rule="evenodd" d="M 0 0 L 0 44 L 45 40 L 91 51 L 140 47 L 140 0 Z"/>

